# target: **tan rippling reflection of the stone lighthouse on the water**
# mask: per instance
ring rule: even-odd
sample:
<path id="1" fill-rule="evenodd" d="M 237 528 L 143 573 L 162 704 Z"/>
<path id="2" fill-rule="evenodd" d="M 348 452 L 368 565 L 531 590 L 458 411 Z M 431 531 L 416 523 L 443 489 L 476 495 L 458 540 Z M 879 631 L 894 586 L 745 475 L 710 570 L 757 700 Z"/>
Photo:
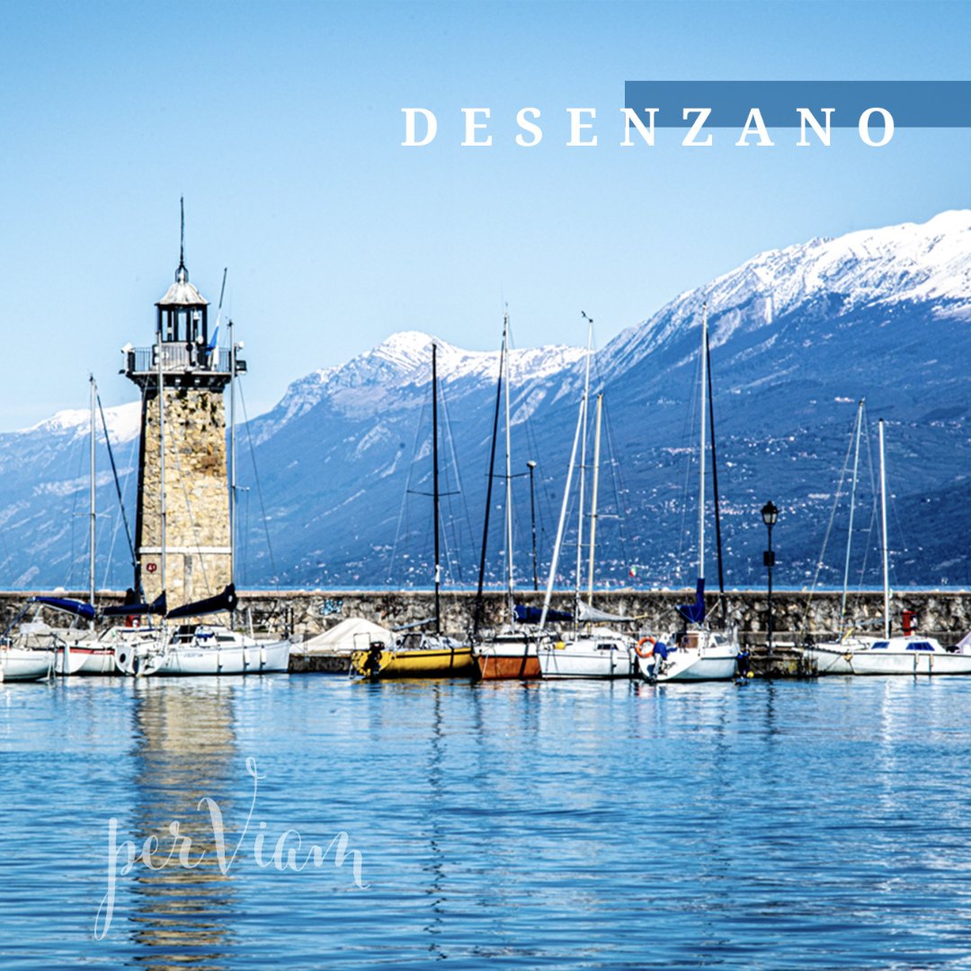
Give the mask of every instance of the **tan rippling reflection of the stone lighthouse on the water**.
<path id="1" fill-rule="evenodd" d="M 130 937 L 134 963 L 152 971 L 187 962 L 207 971 L 229 966 L 234 913 L 232 870 L 219 868 L 217 834 L 200 800 L 218 803 L 225 823 L 225 858 L 236 845 L 237 817 L 247 805 L 235 797 L 242 759 L 233 730 L 234 686 L 224 679 L 131 682 L 136 803 L 132 838 L 158 837 L 155 865 L 139 859 L 132 870 Z M 175 833 L 172 826 L 177 825 Z M 191 841 L 190 848 L 179 839 Z M 185 859 L 197 865 L 185 866 Z M 205 854 L 203 856 L 203 854 Z"/>

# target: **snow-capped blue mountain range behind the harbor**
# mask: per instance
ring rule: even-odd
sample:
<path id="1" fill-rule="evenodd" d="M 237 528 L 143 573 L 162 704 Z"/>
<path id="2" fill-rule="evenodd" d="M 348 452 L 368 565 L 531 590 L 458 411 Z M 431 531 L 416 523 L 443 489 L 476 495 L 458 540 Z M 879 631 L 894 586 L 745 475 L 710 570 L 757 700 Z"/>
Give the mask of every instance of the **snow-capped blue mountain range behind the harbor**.
<path id="1" fill-rule="evenodd" d="M 636 565 L 638 583 L 692 582 L 692 402 L 705 303 L 729 585 L 763 581 L 758 510 L 769 498 L 783 510 L 775 534 L 777 581 L 809 582 L 861 397 L 870 419 L 887 419 L 895 582 L 971 585 L 971 554 L 956 540 L 971 525 L 962 501 L 971 489 L 966 211 L 760 253 L 681 294 L 596 353 L 595 390 L 604 393 L 608 417 L 604 515 L 597 530 L 601 581 L 626 583 L 628 568 Z M 517 322 L 520 332 L 527 329 L 527 321 Z M 240 459 L 245 585 L 276 578 L 289 586 L 427 586 L 432 340 L 415 331 L 393 334 L 344 365 L 295 381 L 276 408 L 251 421 L 251 434 L 240 437 L 254 443 L 254 462 Z M 477 573 L 498 352 L 467 352 L 434 340 L 443 394 L 447 576 L 467 584 Z M 514 543 L 518 569 L 530 582 L 526 460 L 537 462 L 542 572 L 573 442 L 584 357 L 582 349 L 553 347 L 514 351 L 510 358 Z M 130 492 L 138 406 L 126 408 L 110 422 Z M 5 586 L 69 582 L 65 570 L 82 555 L 84 524 L 75 507 L 86 489 L 78 452 L 86 422 L 86 413 L 61 413 L 33 429 L 0 435 Z M 592 442 L 591 429 L 588 465 Z M 496 475 L 504 475 L 501 466 L 500 449 Z M 494 486 L 488 571 L 498 579 L 504 480 Z M 106 509 L 113 492 L 110 480 L 101 485 Z M 589 488 L 586 494 L 588 501 Z M 575 504 L 574 498 L 571 509 Z M 843 543 L 836 537 L 845 518 L 843 509 L 834 517 L 832 544 Z M 857 516 L 860 522 L 854 576 L 873 584 L 875 527 L 867 516 Z M 104 554 L 105 575 L 117 578 L 109 580 L 113 586 L 125 586 L 127 552 L 118 552 L 124 539 L 117 516 L 106 513 L 99 529 L 115 535 L 110 566 Z M 834 549 L 829 559 L 841 561 Z M 565 580 L 575 549 L 564 560 Z M 707 573 L 715 576 L 711 561 Z M 841 569 L 824 568 L 820 579 L 835 583 L 841 576 Z"/>

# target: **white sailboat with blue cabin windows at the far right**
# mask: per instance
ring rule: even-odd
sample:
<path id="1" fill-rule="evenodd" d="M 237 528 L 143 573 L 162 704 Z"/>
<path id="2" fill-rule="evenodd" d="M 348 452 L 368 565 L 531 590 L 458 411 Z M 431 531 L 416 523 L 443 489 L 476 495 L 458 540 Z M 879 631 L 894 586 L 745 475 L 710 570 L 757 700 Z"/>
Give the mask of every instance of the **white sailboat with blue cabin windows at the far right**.
<path id="1" fill-rule="evenodd" d="M 862 402 L 860 402 L 862 406 Z M 858 413 L 862 414 L 862 409 Z M 859 434 L 861 420 L 857 419 L 856 451 L 859 450 Z M 863 635 L 847 630 L 835 642 L 820 642 L 803 648 L 806 657 L 816 667 L 817 674 L 850 674 L 850 675 L 887 675 L 887 674 L 971 674 L 971 643 L 962 641 L 954 648 L 944 648 L 933 637 L 918 634 L 910 622 L 905 619 L 903 633 L 890 633 L 890 582 L 889 582 L 889 554 L 887 548 L 887 470 L 884 450 L 884 419 L 877 423 L 880 448 L 880 522 L 881 522 L 881 552 L 884 573 L 884 631 L 882 636 Z M 854 492 L 855 492 L 855 463 L 854 463 Z M 853 529 L 853 504 L 851 504 L 850 528 Z M 849 541 L 847 548 L 847 563 L 849 565 Z M 845 616 L 846 586 L 848 577 L 844 577 L 844 609 L 841 612 L 841 622 Z"/>

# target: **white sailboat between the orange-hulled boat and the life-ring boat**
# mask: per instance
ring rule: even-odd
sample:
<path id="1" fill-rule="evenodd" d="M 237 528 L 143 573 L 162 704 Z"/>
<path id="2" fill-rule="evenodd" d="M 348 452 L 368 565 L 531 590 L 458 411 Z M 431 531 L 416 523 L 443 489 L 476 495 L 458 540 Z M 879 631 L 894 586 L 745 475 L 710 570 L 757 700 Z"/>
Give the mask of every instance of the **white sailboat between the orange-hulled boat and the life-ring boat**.
<path id="1" fill-rule="evenodd" d="M 570 488 L 573 482 L 573 471 L 577 460 L 577 448 L 580 446 L 580 483 L 579 497 L 577 503 L 578 522 L 577 522 L 577 565 L 576 581 L 574 589 L 574 610 L 569 615 L 572 620 L 573 630 L 571 634 L 561 637 L 551 637 L 539 647 L 540 670 L 544 678 L 598 678 L 598 679 L 618 679 L 630 678 L 637 670 L 636 658 L 634 654 L 634 639 L 629 635 L 620 633 L 609 627 L 600 627 L 604 622 L 623 621 L 626 618 L 615 617 L 596 611 L 590 604 L 585 604 L 580 599 L 580 585 L 583 571 L 583 550 L 584 550 L 584 493 L 586 485 L 586 424 L 587 424 L 587 402 L 590 393 L 590 358 L 592 355 L 593 343 L 593 320 L 586 314 L 583 317 L 587 321 L 586 338 L 586 371 L 584 377 L 584 391 L 580 398 L 580 411 L 577 417 L 577 429 L 573 436 L 573 448 L 570 452 L 570 463 L 567 467 L 566 485 L 563 489 L 563 503 L 560 507 L 559 521 L 556 526 L 556 539 L 553 544 L 552 563 L 550 565 L 550 575 L 547 578 L 546 595 L 543 600 L 543 612 L 540 617 L 540 630 L 546 629 L 547 622 L 552 619 L 550 602 L 552 599 L 553 578 L 556 575 L 556 566 L 559 559 L 559 552 L 563 541 L 563 532 L 566 524 L 567 511 L 569 507 Z M 596 410 L 596 432 L 594 435 L 594 487 L 590 504 L 590 551 L 589 551 L 589 588 L 587 591 L 588 599 L 592 599 L 593 593 L 593 564 L 596 554 L 596 486 L 598 482 L 597 473 L 600 464 L 600 419 L 602 416 L 603 395 L 597 397 Z M 581 623 L 586 623 L 586 629 L 581 629 Z"/>

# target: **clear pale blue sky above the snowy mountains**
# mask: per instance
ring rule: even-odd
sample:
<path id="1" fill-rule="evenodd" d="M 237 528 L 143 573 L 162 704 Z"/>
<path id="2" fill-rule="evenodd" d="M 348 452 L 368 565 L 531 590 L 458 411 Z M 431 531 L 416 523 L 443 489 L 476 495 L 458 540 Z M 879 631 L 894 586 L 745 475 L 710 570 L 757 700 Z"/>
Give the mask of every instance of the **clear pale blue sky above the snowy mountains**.
<path id="1" fill-rule="evenodd" d="M 757 251 L 971 205 L 966 130 L 885 150 L 619 148 L 623 82 L 966 80 L 971 7 L 931 3 L 15 3 L 0 7 L 0 430 L 84 407 L 149 344 L 178 262 L 246 342 L 251 414 L 417 328 L 603 345 Z M 543 112 L 535 150 L 520 107 Z M 404 149 L 401 108 L 436 112 Z M 462 107 L 495 144 L 462 149 Z M 565 109 L 598 111 L 567 149 Z"/>

